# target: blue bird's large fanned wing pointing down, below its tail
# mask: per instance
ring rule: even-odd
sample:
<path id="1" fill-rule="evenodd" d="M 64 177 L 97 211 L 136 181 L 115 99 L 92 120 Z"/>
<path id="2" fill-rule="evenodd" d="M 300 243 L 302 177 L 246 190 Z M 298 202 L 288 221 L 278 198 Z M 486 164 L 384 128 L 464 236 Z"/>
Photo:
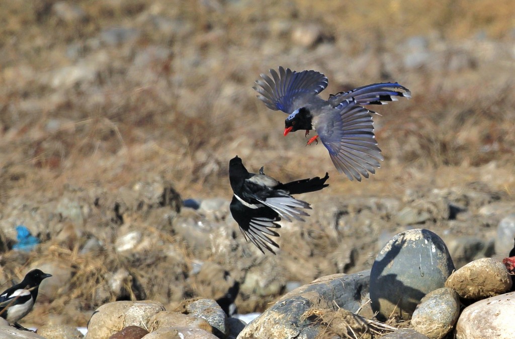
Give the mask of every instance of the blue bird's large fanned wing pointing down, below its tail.
<path id="1" fill-rule="evenodd" d="M 381 149 L 375 141 L 372 111 L 348 99 L 339 104 L 333 113 L 320 115 L 317 133 L 329 150 L 338 172 L 350 180 L 361 181 L 374 174 L 383 160 Z"/>

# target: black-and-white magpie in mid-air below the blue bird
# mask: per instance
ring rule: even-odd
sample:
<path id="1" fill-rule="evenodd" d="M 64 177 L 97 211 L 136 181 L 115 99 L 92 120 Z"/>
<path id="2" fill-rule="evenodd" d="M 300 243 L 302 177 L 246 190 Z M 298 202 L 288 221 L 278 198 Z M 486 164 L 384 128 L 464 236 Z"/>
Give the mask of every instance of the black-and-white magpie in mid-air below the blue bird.
<path id="1" fill-rule="evenodd" d="M 325 177 L 315 177 L 288 183 L 281 183 L 263 173 L 263 167 L 259 174 L 249 173 L 242 163 L 242 159 L 236 156 L 229 162 L 229 180 L 234 196 L 231 201 L 231 214 L 242 230 L 245 239 L 256 245 L 263 251 L 266 248 L 273 254 L 269 245 L 279 248 L 279 245 L 268 238 L 268 235 L 279 236 L 272 230 L 281 226 L 276 222 L 281 218 L 291 222 L 292 219 L 304 221 L 306 212 L 301 209 L 311 209 L 310 204 L 293 198 L 292 194 L 314 192 L 328 187 Z"/>

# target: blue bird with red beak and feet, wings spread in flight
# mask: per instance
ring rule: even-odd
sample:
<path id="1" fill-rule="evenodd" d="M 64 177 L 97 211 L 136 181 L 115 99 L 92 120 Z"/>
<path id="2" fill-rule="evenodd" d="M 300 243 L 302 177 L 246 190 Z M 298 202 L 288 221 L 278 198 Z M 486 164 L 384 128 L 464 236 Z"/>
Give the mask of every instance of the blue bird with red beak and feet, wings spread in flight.
<path id="1" fill-rule="evenodd" d="M 288 113 L 284 135 L 297 130 L 315 129 L 317 138 L 329 150 L 338 172 L 350 180 L 361 181 L 375 173 L 378 160 L 383 160 L 375 141 L 372 114 L 363 105 L 383 105 L 397 97 L 411 97 L 411 92 L 397 82 L 374 83 L 348 92 L 331 94 L 328 100 L 317 94 L 328 85 L 328 79 L 316 71 L 296 72 L 279 67 L 270 70 L 272 77 L 261 74 L 256 90 L 266 107 Z M 317 141 L 318 143 L 318 141 Z"/>

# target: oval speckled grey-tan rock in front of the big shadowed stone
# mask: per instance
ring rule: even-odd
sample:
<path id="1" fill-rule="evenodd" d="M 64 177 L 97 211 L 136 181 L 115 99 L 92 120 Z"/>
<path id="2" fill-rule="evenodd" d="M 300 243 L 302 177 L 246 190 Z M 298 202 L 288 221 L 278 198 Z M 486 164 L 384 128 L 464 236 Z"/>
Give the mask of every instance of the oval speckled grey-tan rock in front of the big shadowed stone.
<path id="1" fill-rule="evenodd" d="M 441 339 L 452 329 L 459 315 L 459 297 L 448 287 L 427 293 L 411 317 L 411 327 L 431 339 Z"/>

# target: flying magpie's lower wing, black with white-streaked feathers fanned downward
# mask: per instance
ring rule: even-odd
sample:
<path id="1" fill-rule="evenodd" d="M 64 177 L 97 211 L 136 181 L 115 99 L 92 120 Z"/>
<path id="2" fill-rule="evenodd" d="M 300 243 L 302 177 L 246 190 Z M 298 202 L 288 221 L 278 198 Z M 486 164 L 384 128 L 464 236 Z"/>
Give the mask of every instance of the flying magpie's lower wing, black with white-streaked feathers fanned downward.
<path id="1" fill-rule="evenodd" d="M 265 206 L 248 207 L 236 196 L 232 198 L 230 210 L 246 241 L 250 240 L 263 254 L 265 253 L 263 248 L 276 254 L 270 245 L 277 248 L 279 248 L 279 245 L 267 236 L 279 236 L 279 233 L 272 230 L 281 227 L 281 225 L 275 223 L 280 221 L 276 212 Z"/>

